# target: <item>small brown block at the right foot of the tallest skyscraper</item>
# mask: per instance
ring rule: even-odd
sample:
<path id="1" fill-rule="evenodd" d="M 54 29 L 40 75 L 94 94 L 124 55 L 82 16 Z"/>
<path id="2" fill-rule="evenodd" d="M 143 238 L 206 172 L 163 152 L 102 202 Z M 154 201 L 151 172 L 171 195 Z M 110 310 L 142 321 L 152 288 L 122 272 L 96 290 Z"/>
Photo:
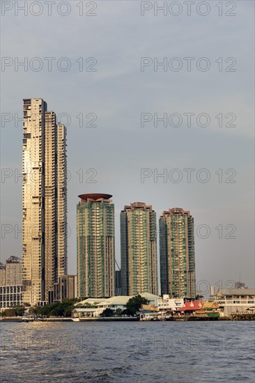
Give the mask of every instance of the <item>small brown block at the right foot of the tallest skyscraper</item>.
<path id="1" fill-rule="evenodd" d="M 54 302 L 75 298 L 77 298 L 77 275 L 59 276 L 59 282 L 54 284 Z"/>

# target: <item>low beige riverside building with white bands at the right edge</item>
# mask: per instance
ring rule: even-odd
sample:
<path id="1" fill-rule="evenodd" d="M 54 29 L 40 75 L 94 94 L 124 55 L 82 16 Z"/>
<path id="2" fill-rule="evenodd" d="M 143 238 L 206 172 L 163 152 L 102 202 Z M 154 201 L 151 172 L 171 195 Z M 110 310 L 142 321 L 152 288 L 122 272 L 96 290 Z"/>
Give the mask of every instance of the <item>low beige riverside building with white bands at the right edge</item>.
<path id="1" fill-rule="evenodd" d="M 255 289 L 254 288 L 223 288 L 218 289 L 215 297 L 215 303 L 222 308 L 224 316 L 233 313 L 241 313 L 247 308 L 254 307 Z"/>

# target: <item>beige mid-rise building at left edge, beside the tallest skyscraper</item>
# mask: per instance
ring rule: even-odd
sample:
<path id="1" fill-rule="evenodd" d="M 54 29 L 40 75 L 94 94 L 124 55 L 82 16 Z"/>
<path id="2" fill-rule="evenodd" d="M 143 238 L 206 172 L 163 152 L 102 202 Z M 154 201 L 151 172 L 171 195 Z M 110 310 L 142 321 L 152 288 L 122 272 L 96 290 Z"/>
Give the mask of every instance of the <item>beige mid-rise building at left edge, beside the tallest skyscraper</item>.
<path id="1" fill-rule="evenodd" d="M 22 304 L 22 259 L 10 256 L 0 264 L 0 308 Z"/>

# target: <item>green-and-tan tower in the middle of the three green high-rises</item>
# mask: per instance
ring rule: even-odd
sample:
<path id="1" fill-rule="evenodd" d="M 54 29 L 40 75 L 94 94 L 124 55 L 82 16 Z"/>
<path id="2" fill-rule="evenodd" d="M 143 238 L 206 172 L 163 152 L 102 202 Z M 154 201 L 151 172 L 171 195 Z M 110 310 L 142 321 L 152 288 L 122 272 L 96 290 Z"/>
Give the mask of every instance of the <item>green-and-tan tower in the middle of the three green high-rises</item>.
<path id="1" fill-rule="evenodd" d="M 131 203 L 121 211 L 121 294 L 157 295 L 157 224 L 151 205 Z"/>

